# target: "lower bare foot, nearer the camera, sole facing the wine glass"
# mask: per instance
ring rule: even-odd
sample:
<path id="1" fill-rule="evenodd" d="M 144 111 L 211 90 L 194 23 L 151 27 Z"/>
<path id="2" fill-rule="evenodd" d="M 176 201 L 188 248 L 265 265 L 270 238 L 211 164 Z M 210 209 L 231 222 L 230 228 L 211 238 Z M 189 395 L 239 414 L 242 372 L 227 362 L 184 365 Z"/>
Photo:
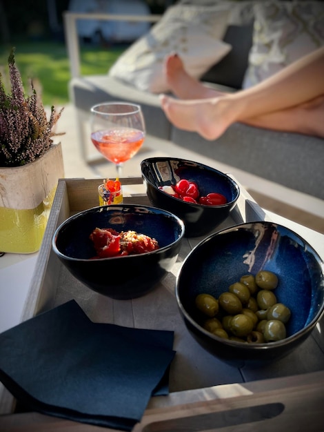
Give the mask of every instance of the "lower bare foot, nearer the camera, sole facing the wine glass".
<path id="1" fill-rule="evenodd" d="M 234 121 L 234 109 L 229 97 L 179 101 L 160 96 L 165 115 L 174 126 L 198 132 L 205 139 L 218 138 Z"/>

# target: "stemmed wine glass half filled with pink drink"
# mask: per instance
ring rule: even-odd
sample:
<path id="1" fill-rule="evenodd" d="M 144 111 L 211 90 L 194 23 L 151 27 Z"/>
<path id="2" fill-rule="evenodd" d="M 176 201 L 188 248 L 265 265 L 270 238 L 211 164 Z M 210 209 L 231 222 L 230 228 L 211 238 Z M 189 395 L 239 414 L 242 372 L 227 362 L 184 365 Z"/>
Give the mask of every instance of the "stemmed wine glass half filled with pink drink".
<path id="1" fill-rule="evenodd" d="M 123 163 L 141 148 L 145 123 L 141 106 L 128 102 L 105 102 L 91 108 L 91 139 L 94 146 L 117 167 L 121 177 Z"/>

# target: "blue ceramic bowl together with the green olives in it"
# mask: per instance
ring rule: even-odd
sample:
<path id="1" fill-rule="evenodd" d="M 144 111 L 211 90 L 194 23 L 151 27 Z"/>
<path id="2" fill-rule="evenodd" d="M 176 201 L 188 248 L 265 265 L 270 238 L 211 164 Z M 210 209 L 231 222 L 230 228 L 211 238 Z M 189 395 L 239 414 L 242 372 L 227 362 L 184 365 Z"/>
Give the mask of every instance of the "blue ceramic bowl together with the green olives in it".
<path id="1" fill-rule="evenodd" d="M 324 265 L 285 226 L 251 222 L 205 237 L 176 279 L 185 325 L 226 362 L 273 361 L 298 347 L 324 315 Z"/>

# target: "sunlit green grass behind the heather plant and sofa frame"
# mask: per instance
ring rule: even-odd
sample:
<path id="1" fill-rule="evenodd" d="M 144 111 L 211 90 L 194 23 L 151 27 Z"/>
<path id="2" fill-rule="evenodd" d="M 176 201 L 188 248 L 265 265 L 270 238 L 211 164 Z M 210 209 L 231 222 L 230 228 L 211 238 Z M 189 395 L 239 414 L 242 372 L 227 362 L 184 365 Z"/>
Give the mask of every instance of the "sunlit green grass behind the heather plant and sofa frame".
<path id="1" fill-rule="evenodd" d="M 15 45 L 15 59 L 21 72 L 26 92 L 29 92 L 28 80 L 34 80 L 41 86 L 44 105 L 61 106 L 68 103 L 68 81 L 70 81 L 70 63 L 63 42 L 21 42 Z M 8 75 L 8 55 L 11 46 L 0 47 L 0 71 Z M 81 46 L 81 75 L 105 75 L 112 63 L 121 55 L 125 47 Z"/>

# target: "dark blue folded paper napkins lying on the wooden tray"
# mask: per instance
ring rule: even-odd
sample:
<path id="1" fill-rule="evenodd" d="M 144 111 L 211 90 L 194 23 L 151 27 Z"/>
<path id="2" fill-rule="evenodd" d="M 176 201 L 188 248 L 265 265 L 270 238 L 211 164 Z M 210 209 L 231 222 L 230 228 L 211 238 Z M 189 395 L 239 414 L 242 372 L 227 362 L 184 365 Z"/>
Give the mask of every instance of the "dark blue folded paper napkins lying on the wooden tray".
<path id="1" fill-rule="evenodd" d="M 173 337 L 91 322 L 72 300 L 1 333 L 0 380 L 34 411 L 130 431 L 168 393 Z"/>

